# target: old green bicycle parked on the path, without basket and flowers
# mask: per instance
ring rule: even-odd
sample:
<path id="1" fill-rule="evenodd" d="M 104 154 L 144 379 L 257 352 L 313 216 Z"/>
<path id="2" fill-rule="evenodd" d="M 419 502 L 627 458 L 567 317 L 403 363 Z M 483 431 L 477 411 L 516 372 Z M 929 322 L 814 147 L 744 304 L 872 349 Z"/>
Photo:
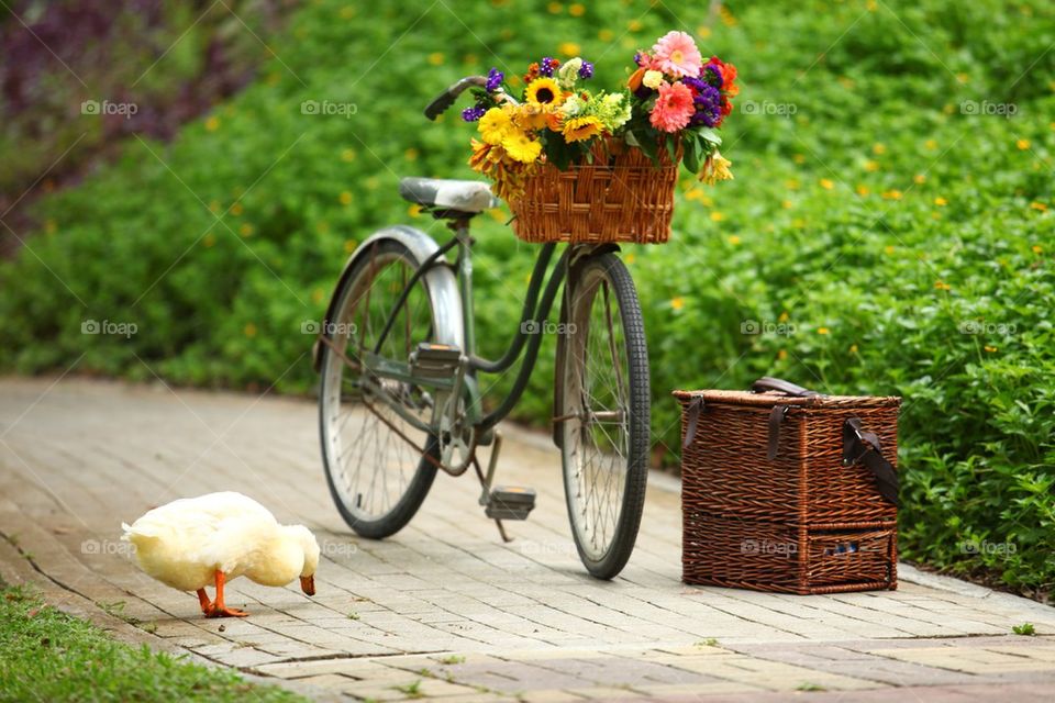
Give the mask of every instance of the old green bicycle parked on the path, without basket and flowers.
<path id="1" fill-rule="evenodd" d="M 425 116 L 435 120 L 485 82 L 463 78 Z M 611 579 L 637 536 L 649 447 L 644 323 L 619 247 L 569 244 L 543 286 L 556 244 L 542 245 L 520 328 L 489 360 L 476 353 L 469 224 L 498 200 L 485 182 L 447 179 L 404 178 L 400 194 L 446 220 L 454 236 L 440 245 L 413 227 L 385 227 L 337 280 L 313 355 L 323 466 L 338 512 L 358 535 L 388 537 L 413 517 L 437 471 L 460 476 L 471 466 L 485 513 L 508 542 L 502 521 L 526 518 L 535 493 L 495 484 L 496 426 L 528 384 L 559 292 L 553 440 L 579 558 L 592 576 Z M 504 372 L 521 357 L 511 392 L 485 413 L 478 375 Z M 492 446 L 486 472 L 481 446 Z"/>

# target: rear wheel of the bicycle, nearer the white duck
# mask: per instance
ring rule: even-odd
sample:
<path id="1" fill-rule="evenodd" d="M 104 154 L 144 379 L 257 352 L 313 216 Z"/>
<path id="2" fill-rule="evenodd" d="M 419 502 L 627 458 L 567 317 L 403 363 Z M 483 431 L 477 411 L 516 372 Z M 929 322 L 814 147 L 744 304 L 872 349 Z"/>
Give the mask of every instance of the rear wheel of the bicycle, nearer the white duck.
<path id="1" fill-rule="evenodd" d="M 330 344 L 322 346 L 319 427 L 326 482 L 348 526 L 375 539 L 395 534 L 413 517 L 436 476 L 424 456 L 438 459 L 434 434 L 396 410 L 427 425 L 432 395 L 410 382 L 370 378 L 358 364 L 375 349 L 393 310 L 395 323 L 377 352 L 380 358 L 406 362 L 420 342 L 451 342 L 436 338 L 447 335 L 437 333 L 427 277 L 396 309 L 419 259 L 396 238 L 365 246 L 334 293 L 334 313 L 323 330 Z"/>

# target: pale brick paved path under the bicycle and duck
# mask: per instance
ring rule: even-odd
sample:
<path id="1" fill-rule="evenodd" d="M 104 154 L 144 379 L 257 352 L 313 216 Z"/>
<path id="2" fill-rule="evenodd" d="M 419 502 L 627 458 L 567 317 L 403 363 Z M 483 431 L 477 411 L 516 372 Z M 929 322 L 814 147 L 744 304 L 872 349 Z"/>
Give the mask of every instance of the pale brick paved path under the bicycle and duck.
<path id="1" fill-rule="evenodd" d="M 0 576 L 37 582 L 129 640 L 321 700 L 1055 699 L 1055 609 L 1030 601 L 904 565 L 895 592 L 685 587 L 668 478 L 649 487 L 625 571 L 590 579 L 571 543 L 559 457 L 515 428 L 500 480 L 540 498 L 528 522 L 508 523 L 513 543 L 485 518 L 471 476 L 442 475 L 408 528 L 358 539 L 326 492 L 315 416 L 296 399 L 0 379 Z M 315 532 L 315 598 L 240 579 L 227 603 L 252 616 L 207 621 L 192 595 L 133 566 L 118 540 L 122 520 L 215 490 L 242 491 Z M 1012 635 L 1023 622 L 1040 635 Z"/>

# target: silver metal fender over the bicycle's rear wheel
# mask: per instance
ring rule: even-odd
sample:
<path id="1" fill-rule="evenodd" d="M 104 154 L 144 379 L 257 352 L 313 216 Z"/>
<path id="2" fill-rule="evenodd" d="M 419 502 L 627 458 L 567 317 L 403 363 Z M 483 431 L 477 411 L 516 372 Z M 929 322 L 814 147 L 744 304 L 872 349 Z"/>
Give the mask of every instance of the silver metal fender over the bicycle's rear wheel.
<path id="1" fill-rule="evenodd" d="M 421 230 L 409 227 L 407 225 L 395 225 L 378 230 L 367 237 L 348 260 L 345 261 L 341 276 L 337 278 L 337 284 L 330 297 L 330 303 L 326 305 L 326 314 L 323 317 L 323 324 L 320 334 L 325 334 L 333 327 L 332 321 L 336 314 L 336 306 L 340 302 L 341 291 L 352 277 L 352 271 L 359 257 L 369 256 L 369 250 L 374 244 L 384 239 L 395 239 L 406 246 L 414 258 L 424 261 L 426 258 L 440 248 L 435 239 L 430 237 Z M 433 320 L 436 321 L 436 335 L 434 342 L 449 344 L 459 349 L 465 348 L 465 321 L 462 320 L 462 293 L 458 290 L 457 280 L 451 270 L 451 265 L 446 256 L 441 256 L 437 260 L 438 266 L 433 266 L 424 276 L 422 281 L 429 290 L 429 299 L 432 304 Z M 316 339 L 311 350 L 312 366 L 315 371 L 320 370 L 322 362 L 322 344 Z"/>

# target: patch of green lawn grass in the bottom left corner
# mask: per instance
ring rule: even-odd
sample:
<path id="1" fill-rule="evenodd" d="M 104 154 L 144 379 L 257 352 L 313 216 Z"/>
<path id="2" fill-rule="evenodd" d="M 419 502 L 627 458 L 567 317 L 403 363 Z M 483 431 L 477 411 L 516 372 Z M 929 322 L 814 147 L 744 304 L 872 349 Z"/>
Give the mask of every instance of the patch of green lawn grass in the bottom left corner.
<path id="1" fill-rule="evenodd" d="M 21 587 L 0 588 L 0 701 L 303 701 L 231 670 L 115 641 Z"/>

